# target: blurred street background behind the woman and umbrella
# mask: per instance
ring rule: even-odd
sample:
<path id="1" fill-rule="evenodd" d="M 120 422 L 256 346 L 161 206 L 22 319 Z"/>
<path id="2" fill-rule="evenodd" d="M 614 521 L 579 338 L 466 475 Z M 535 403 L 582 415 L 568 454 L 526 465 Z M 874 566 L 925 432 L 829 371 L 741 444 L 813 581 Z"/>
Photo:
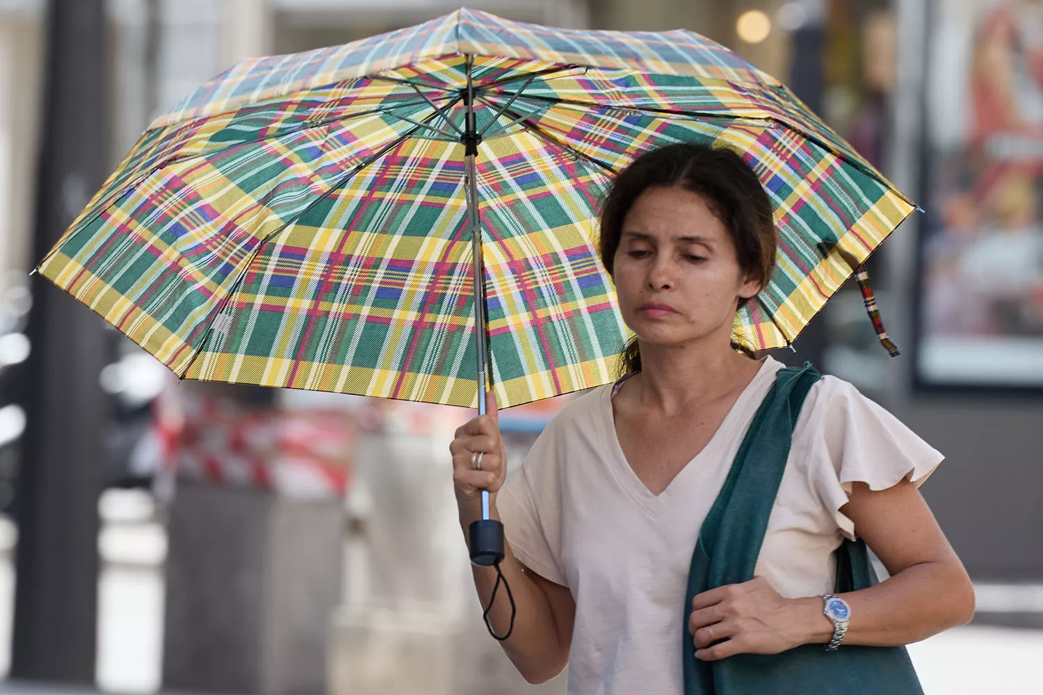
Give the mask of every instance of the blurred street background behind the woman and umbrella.
<path id="1" fill-rule="evenodd" d="M 923 488 L 977 588 L 928 695 L 1043 692 L 1043 2 L 476 0 L 684 27 L 786 82 L 926 209 L 783 361 L 947 454 Z M 0 0 L 0 693 L 563 693 L 485 632 L 447 445 L 471 413 L 184 382 L 28 271 L 150 120 L 237 59 L 443 0 Z M 567 398 L 567 397 L 565 397 Z M 502 415 L 512 465 L 560 401 Z"/>

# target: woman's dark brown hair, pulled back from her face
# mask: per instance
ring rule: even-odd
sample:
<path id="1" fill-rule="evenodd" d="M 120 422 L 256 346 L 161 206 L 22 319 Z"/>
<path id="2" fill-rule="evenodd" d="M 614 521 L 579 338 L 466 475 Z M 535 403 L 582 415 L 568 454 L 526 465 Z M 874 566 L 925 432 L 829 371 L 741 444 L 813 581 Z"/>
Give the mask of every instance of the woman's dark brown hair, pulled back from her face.
<path id="1" fill-rule="evenodd" d="M 744 273 L 767 286 L 775 268 L 775 221 L 772 203 L 757 175 L 730 149 L 679 143 L 646 152 L 627 167 L 612 183 L 601 212 L 601 259 L 612 275 L 615 250 L 623 234 L 623 220 L 646 190 L 673 187 L 701 195 L 728 229 L 735 257 Z M 747 299 L 739 299 L 739 307 Z M 753 356 L 746 345 L 732 340 L 732 347 Z M 641 371 L 637 339 L 623 353 L 621 373 Z"/>

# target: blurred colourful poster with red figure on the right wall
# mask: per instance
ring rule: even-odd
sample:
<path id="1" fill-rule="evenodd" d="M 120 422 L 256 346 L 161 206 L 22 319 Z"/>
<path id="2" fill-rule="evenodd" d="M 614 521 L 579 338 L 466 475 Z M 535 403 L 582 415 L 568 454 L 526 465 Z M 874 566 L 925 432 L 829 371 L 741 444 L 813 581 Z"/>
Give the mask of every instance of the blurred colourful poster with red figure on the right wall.
<path id="1" fill-rule="evenodd" d="M 1043 387 L 1043 1 L 938 0 L 919 380 Z"/>

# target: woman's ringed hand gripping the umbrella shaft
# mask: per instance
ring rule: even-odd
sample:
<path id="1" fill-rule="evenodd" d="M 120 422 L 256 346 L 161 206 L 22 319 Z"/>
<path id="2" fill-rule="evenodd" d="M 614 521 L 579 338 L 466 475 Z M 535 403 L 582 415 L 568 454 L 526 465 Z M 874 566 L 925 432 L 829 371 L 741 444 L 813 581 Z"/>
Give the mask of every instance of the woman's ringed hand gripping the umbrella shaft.
<path id="1" fill-rule="evenodd" d="M 453 483 L 461 514 L 474 513 L 483 490 L 495 494 L 507 474 L 507 454 L 500 436 L 496 395 L 485 394 L 485 415 L 461 425 L 450 444 L 453 454 Z M 481 468 L 475 467 L 475 454 L 481 452 Z"/>

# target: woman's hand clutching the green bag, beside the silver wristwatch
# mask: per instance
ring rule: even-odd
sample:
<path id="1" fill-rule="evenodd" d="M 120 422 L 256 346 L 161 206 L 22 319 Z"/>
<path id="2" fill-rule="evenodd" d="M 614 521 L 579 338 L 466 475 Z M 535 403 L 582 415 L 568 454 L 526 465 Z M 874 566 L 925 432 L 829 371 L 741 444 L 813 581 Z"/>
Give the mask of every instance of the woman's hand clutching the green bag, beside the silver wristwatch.
<path id="1" fill-rule="evenodd" d="M 777 654 L 806 644 L 819 632 L 832 632 L 821 604 L 817 597 L 782 598 L 763 577 L 703 592 L 693 599 L 688 621 L 696 656 Z"/>

